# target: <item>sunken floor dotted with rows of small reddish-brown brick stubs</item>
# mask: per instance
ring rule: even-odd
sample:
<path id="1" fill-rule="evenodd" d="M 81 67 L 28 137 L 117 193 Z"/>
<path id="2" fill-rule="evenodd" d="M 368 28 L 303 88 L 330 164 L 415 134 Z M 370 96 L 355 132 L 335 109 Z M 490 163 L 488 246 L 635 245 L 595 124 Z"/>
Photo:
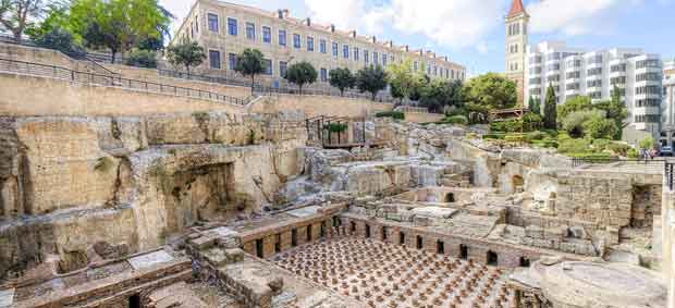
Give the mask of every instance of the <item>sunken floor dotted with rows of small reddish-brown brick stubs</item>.
<path id="1" fill-rule="evenodd" d="M 370 239 L 305 245 L 272 261 L 365 307 L 499 308 L 511 298 L 495 268 Z"/>

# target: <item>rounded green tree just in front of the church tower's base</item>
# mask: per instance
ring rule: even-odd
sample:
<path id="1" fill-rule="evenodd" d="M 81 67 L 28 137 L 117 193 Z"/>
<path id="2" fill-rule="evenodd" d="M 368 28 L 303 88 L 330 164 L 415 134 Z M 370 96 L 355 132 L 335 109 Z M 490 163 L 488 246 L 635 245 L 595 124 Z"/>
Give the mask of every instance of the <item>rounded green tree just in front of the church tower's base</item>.
<path id="1" fill-rule="evenodd" d="M 490 109 L 512 108 L 517 101 L 516 84 L 495 73 L 480 75 L 464 85 L 464 100 Z"/>

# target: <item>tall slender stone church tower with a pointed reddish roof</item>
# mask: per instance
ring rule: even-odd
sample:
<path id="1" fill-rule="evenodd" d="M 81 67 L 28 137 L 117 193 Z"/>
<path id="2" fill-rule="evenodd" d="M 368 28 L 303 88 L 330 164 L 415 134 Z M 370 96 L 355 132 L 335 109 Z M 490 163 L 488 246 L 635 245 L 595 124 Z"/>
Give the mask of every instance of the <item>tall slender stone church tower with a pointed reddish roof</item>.
<path id="1" fill-rule="evenodd" d="M 524 106 L 525 57 L 527 54 L 527 24 L 529 15 L 523 0 L 513 0 L 506 15 L 506 77 L 516 83 L 517 104 Z"/>

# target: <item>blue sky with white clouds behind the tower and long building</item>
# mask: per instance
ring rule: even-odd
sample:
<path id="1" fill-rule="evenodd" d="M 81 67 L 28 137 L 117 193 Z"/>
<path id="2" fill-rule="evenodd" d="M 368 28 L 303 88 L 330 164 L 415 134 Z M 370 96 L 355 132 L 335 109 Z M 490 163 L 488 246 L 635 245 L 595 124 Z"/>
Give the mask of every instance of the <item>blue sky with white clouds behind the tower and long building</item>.
<path id="1" fill-rule="evenodd" d="M 277 11 L 289 9 L 341 29 L 433 50 L 467 67 L 467 75 L 503 72 L 504 16 L 512 0 L 230 0 Z M 177 16 L 193 0 L 160 0 Z M 586 49 L 642 48 L 675 58 L 675 0 L 524 0 L 529 44 L 566 41 Z"/>

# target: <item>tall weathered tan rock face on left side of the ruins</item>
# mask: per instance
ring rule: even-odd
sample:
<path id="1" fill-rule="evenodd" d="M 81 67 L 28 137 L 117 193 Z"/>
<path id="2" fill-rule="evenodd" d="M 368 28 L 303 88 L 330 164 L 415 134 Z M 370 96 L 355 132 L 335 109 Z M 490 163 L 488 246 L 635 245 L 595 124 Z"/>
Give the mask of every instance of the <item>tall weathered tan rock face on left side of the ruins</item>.
<path id="1" fill-rule="evenodd" d="M 46 254 L 145 250 L 197 220 L 249 214 L 304 168 L 306 131 L 283 118 L 0 120 L 0 276 Z"/>

